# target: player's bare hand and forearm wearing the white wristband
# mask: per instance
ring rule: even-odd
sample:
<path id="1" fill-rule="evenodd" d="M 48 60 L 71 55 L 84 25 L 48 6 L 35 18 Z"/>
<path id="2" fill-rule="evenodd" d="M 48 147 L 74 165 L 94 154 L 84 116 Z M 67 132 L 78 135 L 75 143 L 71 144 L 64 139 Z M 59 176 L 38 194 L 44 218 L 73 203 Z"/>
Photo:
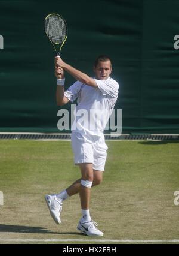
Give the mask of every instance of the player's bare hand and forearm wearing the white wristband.
<path id="1" fill-rule="evenodd" d="M 55 65 L 55 76 L 57 79 L 64 79 L 64 70 Z M 69 102 L 69 99 L 64 96 L 64 86 L 57 86 L 56 100 L 58 106 L 63 106 Z"/>

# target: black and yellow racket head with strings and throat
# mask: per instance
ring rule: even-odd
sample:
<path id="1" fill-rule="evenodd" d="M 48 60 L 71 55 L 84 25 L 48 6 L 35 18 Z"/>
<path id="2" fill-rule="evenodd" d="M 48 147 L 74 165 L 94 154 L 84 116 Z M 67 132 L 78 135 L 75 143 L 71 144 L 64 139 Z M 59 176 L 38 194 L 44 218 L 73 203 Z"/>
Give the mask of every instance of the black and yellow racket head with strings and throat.
<path id="1" fill-rule="evenodd" d="M 45 17 L 45 34 L 54 46 L 57 55 L 67 40 L 66 20 L 57 13 L 48 14 Z"/>

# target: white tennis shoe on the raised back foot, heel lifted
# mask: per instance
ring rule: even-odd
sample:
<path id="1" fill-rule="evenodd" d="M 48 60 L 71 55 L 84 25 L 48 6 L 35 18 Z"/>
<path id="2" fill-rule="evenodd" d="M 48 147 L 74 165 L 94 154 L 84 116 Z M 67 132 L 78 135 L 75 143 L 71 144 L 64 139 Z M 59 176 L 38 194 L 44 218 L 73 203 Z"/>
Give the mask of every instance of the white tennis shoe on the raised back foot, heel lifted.
<path id="1" fill-rule="evenodd" d="M 47 203 L 52 218 L 57 224 L 60 224 L 60 212 L 62 210 L 62 203 L 57 201 L 55 195 L 45 195 L 45 201 Z"/>

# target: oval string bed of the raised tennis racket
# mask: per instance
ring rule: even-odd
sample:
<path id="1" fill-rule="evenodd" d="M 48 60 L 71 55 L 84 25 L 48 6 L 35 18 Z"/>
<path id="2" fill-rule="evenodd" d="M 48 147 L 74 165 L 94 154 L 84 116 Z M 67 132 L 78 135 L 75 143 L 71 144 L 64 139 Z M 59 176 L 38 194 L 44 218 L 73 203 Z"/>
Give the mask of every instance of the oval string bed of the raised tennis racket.
<path id="1" fill-rule="evenodd" d="M 53 43 L 61 44 L 67 35 L 66 23 L 60 16 L 51 15 L 45 19 L 45 32 Z"/>

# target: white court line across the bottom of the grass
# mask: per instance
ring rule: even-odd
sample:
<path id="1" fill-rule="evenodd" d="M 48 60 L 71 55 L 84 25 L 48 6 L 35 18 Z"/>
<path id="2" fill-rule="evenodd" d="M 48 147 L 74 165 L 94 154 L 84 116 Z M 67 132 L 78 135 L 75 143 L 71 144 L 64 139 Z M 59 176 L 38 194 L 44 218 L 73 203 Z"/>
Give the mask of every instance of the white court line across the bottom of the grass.
<path id="1" fill-rule="evenodd" d="M 0 242 L 116 242 L 116 243 L 179 243 L 179 239 L 116 240 L 116 239 L 0 239 Z"/>

